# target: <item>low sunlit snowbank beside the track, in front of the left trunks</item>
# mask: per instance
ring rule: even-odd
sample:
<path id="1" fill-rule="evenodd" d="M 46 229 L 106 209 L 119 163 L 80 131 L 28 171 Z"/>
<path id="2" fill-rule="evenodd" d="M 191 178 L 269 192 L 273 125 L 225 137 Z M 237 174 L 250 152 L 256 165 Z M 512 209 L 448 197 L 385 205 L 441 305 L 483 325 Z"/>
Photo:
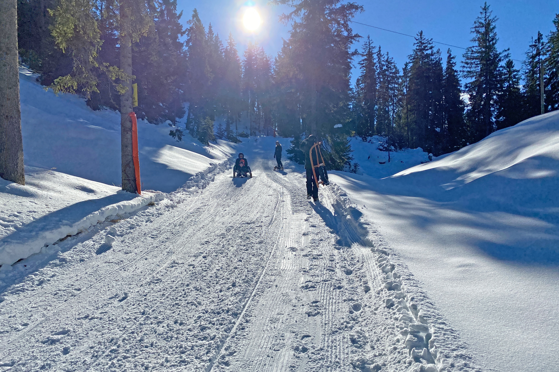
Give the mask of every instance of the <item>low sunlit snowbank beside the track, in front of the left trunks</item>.
<path id="1" fill-rule="evenodd" d="M 138 196 L 53 170 L 26 167 L 25 176 L 26 186 L 0 178 L 2 270 L 67 235 L 164 198 L 162 192 Z"/>

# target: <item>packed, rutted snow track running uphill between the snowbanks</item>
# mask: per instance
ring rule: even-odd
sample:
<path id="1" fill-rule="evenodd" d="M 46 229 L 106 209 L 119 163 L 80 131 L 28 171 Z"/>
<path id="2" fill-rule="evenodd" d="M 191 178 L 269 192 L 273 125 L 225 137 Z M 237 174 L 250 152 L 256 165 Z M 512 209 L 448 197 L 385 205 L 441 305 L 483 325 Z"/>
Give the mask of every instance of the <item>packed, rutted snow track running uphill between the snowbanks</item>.
<path id="1" fill-rule="evenodd" d="M 302 167 L 273 171 L 272 151 L 251 139 L 253 178 L 216 171 L 203 190 L 60 241 L 55 259 L 15 264 L 0 371 L 473 370 L 452 330 L 406 305 L 343 191 L 307 201 Z M 437 332 L 454 340 L 438 357 Z"/>

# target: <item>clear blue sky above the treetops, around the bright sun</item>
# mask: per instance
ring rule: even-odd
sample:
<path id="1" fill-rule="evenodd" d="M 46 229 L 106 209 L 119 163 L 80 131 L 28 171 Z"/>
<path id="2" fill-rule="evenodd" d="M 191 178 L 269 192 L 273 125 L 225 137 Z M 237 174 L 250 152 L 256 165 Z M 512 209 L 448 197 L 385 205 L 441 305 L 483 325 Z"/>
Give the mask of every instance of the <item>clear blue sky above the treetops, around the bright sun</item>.
<path id="1" fill-rule="evenodd" d="M 238 42 L 240 54 L 248 41 L 258 41 L 272 57 L 282 46 L 282 37 L 288 37 L 289 26 L 278 22 L 278 16 L 288 8 L 271 6 L 265 0 L 254 0 L 252 3 L 259 9 L 263 17 L 263 26 L 256 33 L 244 30 L 241 23 L 246 0 L 178 0 L 178 9 L 184 11 L 183 24 L 190 19 L 192 9 L 197 8 L 203 24 L 211 22 L 214 30 L 225 39 L 229 32 L 233 33 Z M 387 28 L 409 35 L 423 30 L 425 36 L 435 41 L 456 46 L 470 46 L 470 28 L 479 15 L 483 1 L 454 0 L 362 0 L 357 3 L 364 6 L 364 12 L 354 20 L 369 25 Z M 552 20 L 559 13 L 557 0 L 495 0 L 488 2 L 493 15 L 499 18 L 497 33 L 500 49 L 510 48 L 514 59 L 523 60 L 531 38 L 538 30 L 547 35 L 553 28 Z M 390 52 L 398 66 L 407 60 L 413 48 L 414 39 L 395 33 L 376 30 L 375 28 L 353 24 L 354 32 L 366 37 L 371 35 L 375 45 L 381 45 L 383 51 Z M 362 39 L 363 41 L 363 39 Z M 359 42 L 361 46 L 362 41 Z M 436 45 L 446 51 L 448 46 Z M 451 48 L 461 59 L 463 50 Z M 518 63 L 518 62 L 517 62 Z M 518 65 L 517 65 L 518 67 Z"/>

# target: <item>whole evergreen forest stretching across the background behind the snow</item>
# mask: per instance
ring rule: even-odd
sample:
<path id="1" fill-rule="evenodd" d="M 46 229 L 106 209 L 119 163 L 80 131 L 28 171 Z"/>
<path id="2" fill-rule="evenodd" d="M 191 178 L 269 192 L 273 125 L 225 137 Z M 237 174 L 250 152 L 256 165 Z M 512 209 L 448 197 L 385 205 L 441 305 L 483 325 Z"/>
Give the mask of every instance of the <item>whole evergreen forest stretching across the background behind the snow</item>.
<path id="1" fill-rule="evenodd" d="M 290 32 L 271 56 L 253 43 L 239 51 L 231 33 L 218 35 L 196 9 L 183 15 L 176 0 L 126 1 L 122 15 L 116 0 L 18 0 L 21 61 L 45 87 L 79 94 L 95 110 L 120 110 L 120 95 L 137 83 L 136 115 L 154 125 L 182 119 L 186 128 L 170 128 L 177 141 L 186 130 L 203 143 L 277 134 L 293 137 L 289 152 L 300 161 L 297 144 L 312 133 L 330 168 L 343 170 L 348 136 L 439 156 L 559 109 L 559 15 L 534 35 L 523 63 L 498 49 L 498 18 L 485 3 L 461 64 L 419 31 L 398 66 L 390 46 L 353 32 L 363 11 L 354 2 L 272 0 L 290 8 L 280 19 Z M 120 65 L 124 22 L 131 75 Z M 241 120 L 250 133 L 239 131 Z"/>

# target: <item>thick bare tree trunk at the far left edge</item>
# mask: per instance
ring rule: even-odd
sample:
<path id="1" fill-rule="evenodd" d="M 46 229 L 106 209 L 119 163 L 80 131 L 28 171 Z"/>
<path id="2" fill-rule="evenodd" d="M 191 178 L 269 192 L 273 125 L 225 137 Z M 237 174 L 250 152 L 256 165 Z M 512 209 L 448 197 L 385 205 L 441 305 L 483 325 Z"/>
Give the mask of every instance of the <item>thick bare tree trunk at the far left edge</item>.
<path id="1" fill-rule="evenodd" d="M 0 25 L 0 177 L 25 185 L 17 54 L 17 0 L 0 0 Z"/>

